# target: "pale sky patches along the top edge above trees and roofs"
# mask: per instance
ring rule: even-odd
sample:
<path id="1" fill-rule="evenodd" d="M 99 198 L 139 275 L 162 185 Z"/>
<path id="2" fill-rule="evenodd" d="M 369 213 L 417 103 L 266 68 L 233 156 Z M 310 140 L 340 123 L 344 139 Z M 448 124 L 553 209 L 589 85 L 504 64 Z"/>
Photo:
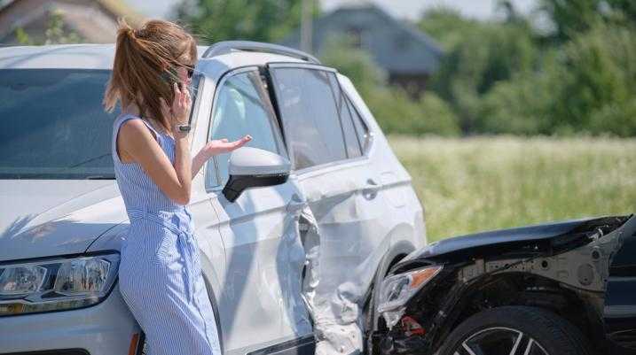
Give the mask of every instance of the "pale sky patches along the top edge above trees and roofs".
<path id="1" fill-rule="evenodd" d="M 349 3 L 373 2 L 397 18 L 418 19 L 421 12 L 446 6 L 459 10 L 463 15 L 475 19 L 494 19 L 497 0 L 319 0 L 321 8 L 328 12 L 334 8 Z M 170 9 L 179 0 L 127 0 L 133 8 L 148 17 L 166 18 Z M 538 0 L 512 0 L 515 9 L 521 13 L 529 13 L 536 6 Z"/>

